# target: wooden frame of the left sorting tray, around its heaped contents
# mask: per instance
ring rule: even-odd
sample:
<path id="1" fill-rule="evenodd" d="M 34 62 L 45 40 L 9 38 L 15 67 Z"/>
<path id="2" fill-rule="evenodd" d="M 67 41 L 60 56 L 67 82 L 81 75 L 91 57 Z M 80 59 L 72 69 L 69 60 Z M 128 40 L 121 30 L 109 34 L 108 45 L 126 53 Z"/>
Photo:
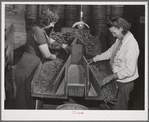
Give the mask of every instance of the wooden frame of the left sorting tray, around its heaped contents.
<path id="1" fill-rule="evenodd" d="M 69 59 L 68 59 L 69 60 Z M 43 67 L 43 64 L 39 64 L 35 75 L 32 80 L 32 96 L 33 97 L 41 97 L 41 98 L 61 98 L 61 99 L 67 99 L 67 89 L 66 89 L 66 77 L 65 77 L 65 72 L 66 72 L 66 65 L 62 67 L 60 70 L 60 73 L 57 75 L 54 83 L 53 83 L 53 90 L 52 93 L 46 93 L 46 92 L 37 92 L 35 90 L 36 87 L 36 80 L 39 77 L 39 74 L 41 72 L 41 69 Z"/>

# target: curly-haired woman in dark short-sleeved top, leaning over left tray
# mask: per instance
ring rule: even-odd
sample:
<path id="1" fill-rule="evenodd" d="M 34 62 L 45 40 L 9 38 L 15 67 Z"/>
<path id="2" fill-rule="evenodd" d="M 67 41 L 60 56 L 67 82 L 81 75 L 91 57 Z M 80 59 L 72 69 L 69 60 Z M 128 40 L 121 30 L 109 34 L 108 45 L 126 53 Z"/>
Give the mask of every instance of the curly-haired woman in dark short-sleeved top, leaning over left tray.
<path id="1" fill-rule="evenodd" d="M 25 44 L 25 52 L 17 64 L 14 73 L 16 83 L 16 108 L 30 109 L 32 106 L 31 81 L 35 70 L 42 58 L 53 60 L 56 58 L 49 51 L 49 45 L 55 44 L 62 48 L 67 45 L 59 44 L 55 40 L 49 39 L 44 31 L 47 28 L 54 27 L 59 17 L 54 10 L 46 9 L 41 12 L 38 24 L 33 26 L 28 34 Z"/>

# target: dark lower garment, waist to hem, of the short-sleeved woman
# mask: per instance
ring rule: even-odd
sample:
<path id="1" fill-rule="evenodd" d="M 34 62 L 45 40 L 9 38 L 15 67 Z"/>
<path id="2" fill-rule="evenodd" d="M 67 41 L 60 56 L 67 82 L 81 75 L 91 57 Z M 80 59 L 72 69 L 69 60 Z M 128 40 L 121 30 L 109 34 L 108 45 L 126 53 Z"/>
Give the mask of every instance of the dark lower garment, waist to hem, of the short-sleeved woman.
<path id="1" fill-rule="evenodd" d="M 31 82 L 40 58 L 34 54 L 24 53 L 14 71 L 16 84 L 16 109 L 34 108 L 31 104 Z"/>

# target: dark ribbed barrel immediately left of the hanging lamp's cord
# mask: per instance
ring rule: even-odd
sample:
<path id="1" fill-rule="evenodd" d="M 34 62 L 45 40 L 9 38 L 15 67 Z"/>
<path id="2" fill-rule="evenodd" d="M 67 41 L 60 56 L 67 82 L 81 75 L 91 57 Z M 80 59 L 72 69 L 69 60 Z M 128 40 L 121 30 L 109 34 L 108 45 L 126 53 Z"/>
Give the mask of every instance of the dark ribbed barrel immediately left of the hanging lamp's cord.
<path id="1" fill-rule="evenodd" d="M 65 5 L 65 27 L 72 27 L 77 21 L 79 21 L 78 5 Z"/>

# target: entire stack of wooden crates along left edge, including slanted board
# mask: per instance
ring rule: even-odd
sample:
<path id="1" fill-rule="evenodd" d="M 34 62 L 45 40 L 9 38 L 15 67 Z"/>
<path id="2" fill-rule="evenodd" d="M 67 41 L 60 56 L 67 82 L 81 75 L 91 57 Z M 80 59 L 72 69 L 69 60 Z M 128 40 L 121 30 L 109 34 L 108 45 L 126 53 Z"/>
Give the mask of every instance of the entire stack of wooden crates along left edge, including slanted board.
<path id="1" fill-rule="evenodd" d="M 8 9 L 9 7 L 9 9 Z M 8 6 L 5 9 L 5 91 L 6 100 L 14 98 L 13 66 L 21 58 L 26 42 L 24 11 Z M 22 9 L 22 8 L 20 8 Z M 19 51 L 18 48 L 22 48 Z M 16 61 L 17 60 L 17 61 Z"/>

